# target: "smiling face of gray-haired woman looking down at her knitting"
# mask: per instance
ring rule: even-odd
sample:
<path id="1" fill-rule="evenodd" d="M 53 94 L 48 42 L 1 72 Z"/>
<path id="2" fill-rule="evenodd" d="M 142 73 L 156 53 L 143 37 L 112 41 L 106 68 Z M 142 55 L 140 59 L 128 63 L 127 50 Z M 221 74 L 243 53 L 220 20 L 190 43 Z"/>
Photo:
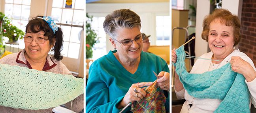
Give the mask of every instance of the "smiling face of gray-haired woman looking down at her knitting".
<path id="1" fill-rule="evenodd" d="M 116 32 L 117 32 L 116 40 L 119 42 L 134 40 L 135 38 L 141 37 L 141 32 L 137 27 L 134 27 L 132 29 L 122 28 L 122 29 L 118 29 Z M 125 61 L 127 60 L 134 61 L 140 57 L 141 51 L 143 49 L 143 41 L 138 43 L 136 41 L 133 41 L 132 45 L 130 46 L 124 46 L 119 42 L 112 41 L 112 44 L 114 43 L 113 46 L 117 48 L 119 59 L 123 59 Z"/>

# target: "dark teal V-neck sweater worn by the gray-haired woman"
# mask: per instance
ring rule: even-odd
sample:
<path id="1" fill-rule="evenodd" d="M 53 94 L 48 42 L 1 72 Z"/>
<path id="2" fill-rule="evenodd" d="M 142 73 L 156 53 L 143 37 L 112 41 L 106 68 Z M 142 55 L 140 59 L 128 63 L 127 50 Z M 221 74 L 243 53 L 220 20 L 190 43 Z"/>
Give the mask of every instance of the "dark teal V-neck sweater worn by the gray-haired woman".
<path id="1" fill-rule="evenodd" d="M 153 82 L 156 80 L 154 72 L 166 71 L 169 67 L 165 60 L 152 53 L 141 52 L 141 60 L 137 71 L 132 74 L 117 60 L 113 53 L 95 60 L 89 69 L 86 86 L 86 113 L 118 113 L 118 103 L 128 92 L 132 84 L 138 82 Z M 169 112 L 169 94 L 166 95 L 166 109 Z M 123 113 L 132 113 L 130 106 Z"/>

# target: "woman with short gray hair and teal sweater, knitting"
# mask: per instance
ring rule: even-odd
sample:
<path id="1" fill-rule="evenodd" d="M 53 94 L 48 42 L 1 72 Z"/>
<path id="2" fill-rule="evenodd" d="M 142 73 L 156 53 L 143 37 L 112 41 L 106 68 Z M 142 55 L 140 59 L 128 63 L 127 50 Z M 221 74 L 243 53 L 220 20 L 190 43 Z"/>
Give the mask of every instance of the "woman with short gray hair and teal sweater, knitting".
<path id="1" fill-rule="evenodd" d="M 143 52 L 139 15 L 130 9 L 115 10 L 105 17 L 104 30 L 114 51 L 95 60 L 89 69 L 86 87 L 87 113 L 118 113 L 130 102 L 146 96 L 145 86 L 157 80 L 166 96 L 169 112 L 169 67 L 164 59 Z M 124 112 L 130 113 L 131 107 Z"/>

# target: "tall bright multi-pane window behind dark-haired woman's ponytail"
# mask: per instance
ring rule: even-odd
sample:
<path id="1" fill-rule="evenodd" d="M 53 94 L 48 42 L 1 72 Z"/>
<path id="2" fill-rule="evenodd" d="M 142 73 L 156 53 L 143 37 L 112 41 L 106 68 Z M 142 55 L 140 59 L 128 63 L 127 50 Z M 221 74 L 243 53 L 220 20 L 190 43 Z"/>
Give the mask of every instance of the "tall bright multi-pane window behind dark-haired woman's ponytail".
<path id="1" fill-rule="evenodd" d="M 78 58 L 81 48 L 81 30 L 83 29 L 84 0 L 72 0 L 72 8 L 65 8 L 66 0 L 53 0 L 51 17 L 63 30 L 63 57 Z M 82 15 L 81 15 L 82 14 Z"/>

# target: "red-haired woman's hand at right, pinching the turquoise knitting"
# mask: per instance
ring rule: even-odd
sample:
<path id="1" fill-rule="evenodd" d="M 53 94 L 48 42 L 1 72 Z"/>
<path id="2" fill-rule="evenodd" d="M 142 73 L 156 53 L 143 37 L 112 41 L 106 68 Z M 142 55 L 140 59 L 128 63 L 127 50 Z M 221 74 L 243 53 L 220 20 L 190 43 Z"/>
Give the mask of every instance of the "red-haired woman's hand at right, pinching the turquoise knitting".
<path id="1" fill-rule="evenodd" d="M 251 82 L 256 78 L 256 71 L 241 57 L 231 57 L 230 64 L 232 71 L 242 74 L 247 82 Z"/>

